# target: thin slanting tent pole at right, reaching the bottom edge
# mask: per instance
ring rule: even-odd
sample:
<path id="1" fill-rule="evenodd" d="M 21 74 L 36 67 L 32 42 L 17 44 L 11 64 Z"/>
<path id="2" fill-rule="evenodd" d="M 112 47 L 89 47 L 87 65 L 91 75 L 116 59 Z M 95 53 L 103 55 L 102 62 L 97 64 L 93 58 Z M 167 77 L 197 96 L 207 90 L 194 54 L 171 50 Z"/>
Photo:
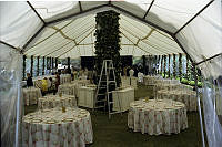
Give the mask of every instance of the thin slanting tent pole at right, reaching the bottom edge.
<path id="1" fill-rule="evenodd" d="M 195 91 L 196 91 L 196 97 L 198 97 L 198 107 L 199 107 L 199 117 L 200 117 L 200 124 L 201 124 L 202 144 L 203 144 L 203 147 L 205 147 L 204 133 L 203 133 L 203 120 L 202 120 L 202 112 L 201 112 L 201 99 L 200 99 L 199 90 L 198 90 L 198 75 L 196 75 L 195 64 L 193 64 L 193 73 L 194 73 Z"/>

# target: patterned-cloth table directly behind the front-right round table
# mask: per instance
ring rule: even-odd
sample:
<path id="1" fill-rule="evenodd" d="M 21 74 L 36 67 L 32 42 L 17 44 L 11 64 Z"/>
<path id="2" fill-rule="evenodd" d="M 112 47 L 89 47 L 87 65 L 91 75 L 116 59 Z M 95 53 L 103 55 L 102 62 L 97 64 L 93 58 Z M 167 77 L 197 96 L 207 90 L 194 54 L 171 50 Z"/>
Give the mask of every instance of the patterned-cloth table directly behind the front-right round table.
<path id="1" fill-rule="evenodd" d="M 173 91 L 165 91 L 160 90 L 158 91 L 157 97 L 159 99 L 173 99 L 179 101 L 185 104 L 188 111 L 196 111 L 198 109 L 198 98 L 196 93 L 194 91 L 188 90 L 173 90 Z"/>

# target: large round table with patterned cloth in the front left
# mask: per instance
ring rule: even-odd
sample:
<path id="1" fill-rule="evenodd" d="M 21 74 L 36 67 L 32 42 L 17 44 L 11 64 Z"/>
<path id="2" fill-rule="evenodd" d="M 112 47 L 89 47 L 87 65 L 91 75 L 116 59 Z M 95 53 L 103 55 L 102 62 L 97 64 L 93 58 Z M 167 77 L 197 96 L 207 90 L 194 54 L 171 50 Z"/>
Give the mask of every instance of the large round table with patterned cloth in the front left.
<path id="1" fill-rule="evenodd" d="M 47 109 L 23 116 L 22 147 L 84 147 L 93 140 L 90 113 Z"/>

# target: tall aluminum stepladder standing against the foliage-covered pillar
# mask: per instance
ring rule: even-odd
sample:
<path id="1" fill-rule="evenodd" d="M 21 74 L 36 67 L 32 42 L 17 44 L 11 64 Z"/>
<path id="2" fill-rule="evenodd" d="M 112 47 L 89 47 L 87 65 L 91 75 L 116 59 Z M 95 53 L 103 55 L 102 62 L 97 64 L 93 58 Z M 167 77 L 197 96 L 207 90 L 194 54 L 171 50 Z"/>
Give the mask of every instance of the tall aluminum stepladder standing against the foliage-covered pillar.
<path id="1" fill-rule="evenodd" d="M 114 66 L 112 60 L 104 60 L 102 63 L 102 70 L 100 73 L 100 78 L 97 87 L 94 108 L 103 107 L 105 109 L 105 106 L 108 105 L 109 119 L 111 118 L 112 114 L 122 113 L 119 96 L 117 97 L 117 101 L 120 111 L 111 112 L 111 104 L 114 104 L 113 97 L 112 101 L 110 97 L 113 91 L 110 90 L 110 85 L 112 84 L 115 90 L 117 81 L 115 81 Z"/>

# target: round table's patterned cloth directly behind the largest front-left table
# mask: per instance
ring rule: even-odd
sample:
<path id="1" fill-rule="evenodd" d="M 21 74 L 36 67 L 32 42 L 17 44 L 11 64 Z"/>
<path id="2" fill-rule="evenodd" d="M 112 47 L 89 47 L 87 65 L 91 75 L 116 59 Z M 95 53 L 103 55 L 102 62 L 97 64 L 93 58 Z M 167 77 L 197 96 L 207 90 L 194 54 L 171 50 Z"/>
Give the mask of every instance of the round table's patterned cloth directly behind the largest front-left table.
<path id="1" fill-rule="evenodd" d="M 77 99 L 73 95 L 48 95 L 39 98 L 38 108 L 54 108 L 54 107 L 77 107 Z"/>

